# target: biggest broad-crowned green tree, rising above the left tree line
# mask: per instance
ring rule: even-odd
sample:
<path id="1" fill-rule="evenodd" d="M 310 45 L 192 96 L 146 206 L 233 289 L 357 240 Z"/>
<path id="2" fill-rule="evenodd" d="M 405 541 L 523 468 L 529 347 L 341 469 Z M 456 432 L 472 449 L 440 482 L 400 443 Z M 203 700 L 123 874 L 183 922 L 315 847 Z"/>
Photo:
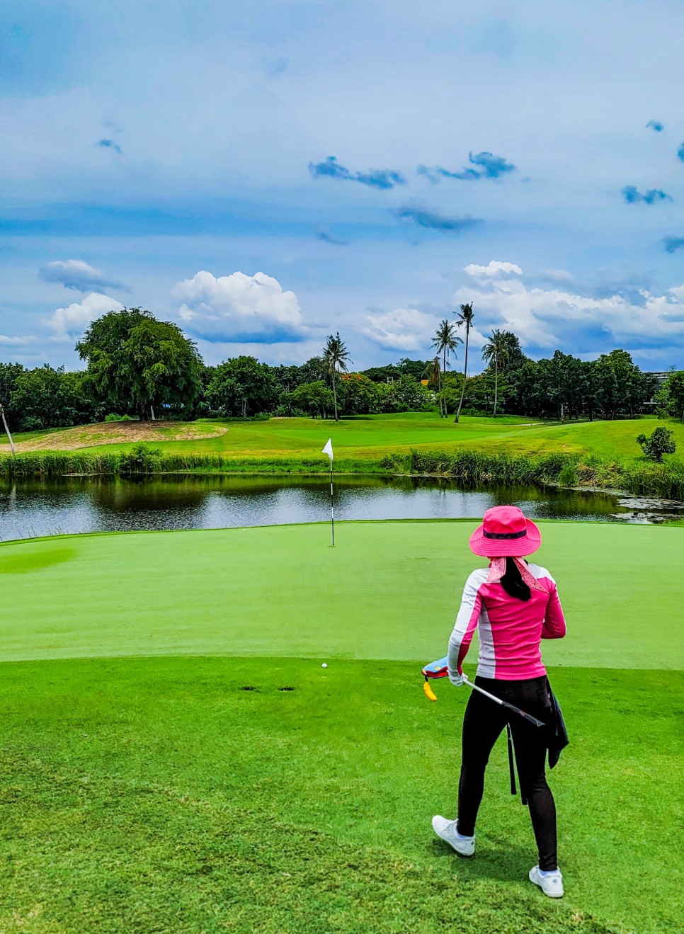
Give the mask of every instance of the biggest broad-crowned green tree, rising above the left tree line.
<path id="1" fill-rule="evenodd" d="M 194 342 L 142 308 L 97 318 L 76 349 L 88 362 L 95 397 L 143 420 L 164 405 L 190 408 L 202 392 L 203 363 Z"/>

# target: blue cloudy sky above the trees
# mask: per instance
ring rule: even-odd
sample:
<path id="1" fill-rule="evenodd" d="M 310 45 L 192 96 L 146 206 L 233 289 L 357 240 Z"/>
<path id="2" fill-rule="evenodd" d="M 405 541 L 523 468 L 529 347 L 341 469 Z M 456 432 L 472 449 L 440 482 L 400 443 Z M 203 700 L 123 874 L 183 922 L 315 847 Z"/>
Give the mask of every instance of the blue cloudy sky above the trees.
<path id="1" fill-rule="evenodd" d="M 427 358 L 475 308 L 533 357 L 684 368 L 677 0 L 6 0 L 0 360 L 109 308 L 208 362 Z"/>

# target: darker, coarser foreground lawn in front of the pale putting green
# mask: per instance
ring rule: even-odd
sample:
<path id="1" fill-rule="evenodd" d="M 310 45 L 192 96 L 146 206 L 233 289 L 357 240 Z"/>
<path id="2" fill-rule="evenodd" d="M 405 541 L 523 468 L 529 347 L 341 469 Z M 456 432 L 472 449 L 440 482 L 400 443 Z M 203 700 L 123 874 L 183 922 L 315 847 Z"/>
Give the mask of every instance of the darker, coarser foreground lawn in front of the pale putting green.
<path id="1" fill-rule="evenodd" d="M 0 930 L 675 930 L 681 675 L 554 672 L 572 745 L 552 772 L 567 893 L 552 902 L 527 881 L 503 741 L 476 858 L 433 838 L 432 814 L 454 812 L 467 695 L 441 683 L 429 704 L 417 668 L 3 665 Z"/>

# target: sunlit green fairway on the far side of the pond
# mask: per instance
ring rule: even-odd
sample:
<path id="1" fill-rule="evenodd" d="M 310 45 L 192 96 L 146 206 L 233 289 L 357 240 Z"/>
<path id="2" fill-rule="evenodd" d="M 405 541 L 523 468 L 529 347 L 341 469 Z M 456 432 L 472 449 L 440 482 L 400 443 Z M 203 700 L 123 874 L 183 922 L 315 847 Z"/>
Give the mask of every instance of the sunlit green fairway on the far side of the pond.
<path id="1" fill-rule="evenodd" d="M 185 423 L 181 423 L 181 427 Z M 657 418 L 624 419 L 577 423 L 538 423 L 529 417 L 463 417 L 459 424 L 435 413 L 344 418 L 339 422 L 313 418 L 272 418 L 249 422 L 197 422 L 196 437 L 186 441 L 164 440 L 170 428 L 161 428 L 150 438 L 164 454 L 221 454 L 227 457 L 316 456 L 330 435 L 335 451 L 344 458 L 380 458 L 388 452 L 408 452 L 411 448 L 452 450 L 463 446 L 475 450 L 507 451 L 511 454 L 541 453 L 553 450 L 569 453 L 597 453 L 634 458 L 641 455 L 636 435 L 650 434 L 662 426 Z M 107 431 L 137 431 L 137 422 L 109 423 L 95 429 L 80 427 L 59 432 L 61 443 L 70 450 L 127 450 L 131 444 L 106 444 Z M 185 426 L 187 428 L 187 426 Z M 684 425 L 668 422 L 675 433 L 679 450 L 684 449 Z M 227 431 L 226 431 L 227 429 Z M 190 429 L 188 429 L 190 430 Z M 94 432 L 94 433 L 93 433 Z M 223 433 L 218 433 L 223 432 Z M 97 439 L 96 441 L 94 439 Z M 24 442 L 39 443 L 50 450 L 50 432 L 32 432 L 15 436 L 20 449 Z M 58 449 L 59 445 L 55 445 Z M 30 449 L 30 448 L 27 448 Z M 0 444 L 0 452 L 8 446 Z"/>

